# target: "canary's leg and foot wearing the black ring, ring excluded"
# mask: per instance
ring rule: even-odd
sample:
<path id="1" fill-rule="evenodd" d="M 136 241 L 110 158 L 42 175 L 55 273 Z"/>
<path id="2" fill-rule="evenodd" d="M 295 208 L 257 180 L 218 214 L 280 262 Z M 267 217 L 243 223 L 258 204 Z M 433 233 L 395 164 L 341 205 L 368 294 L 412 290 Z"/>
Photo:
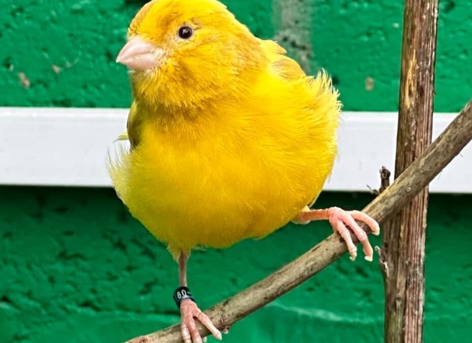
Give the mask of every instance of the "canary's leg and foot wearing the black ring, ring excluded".
<path id="1" fill-rule="evenodd" d="M 181 253 L 179 257 L 179 279 L 180 285 L 187 287 L 187 260 L 188 255 Z M 200 334 L 198 333 L 195 318 L 201 324 L 210 330 L 216 339 L 221 339 L 221 332 L 213 325 L 210 318 L 208 318 L 191 299 L 184 299 L 180 304 L 181 313 L 181 331 L 185 343 L 202 343 Z M 206 340 L 206 339 L 205 339 Z"/>

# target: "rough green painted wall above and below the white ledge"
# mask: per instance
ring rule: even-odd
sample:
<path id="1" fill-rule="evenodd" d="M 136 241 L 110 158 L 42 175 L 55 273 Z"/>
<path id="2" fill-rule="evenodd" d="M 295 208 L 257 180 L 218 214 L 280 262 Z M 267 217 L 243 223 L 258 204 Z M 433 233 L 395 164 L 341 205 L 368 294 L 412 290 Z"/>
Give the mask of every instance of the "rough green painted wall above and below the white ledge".
<path id="1" fill-rule="evenodd" d="M 228 0 L 260 37 L 306 70 L 327 69 L 346 110 L 397 108 L 402 2 Z M 4 0 L 0 106 L 127 107 L 114 57 L 139 0 Z M 472 95 L 472 7 L 441 1 L 436 110 Z M 3 161 L 2 163 L 5 163 Z M 8 163 L 8 161 L 7 161 Z M 371 196 L 323 194 L 318 206 L 362 208 Z M 472 327 L 472 196 L 434 195 L 428 215 L 425 341 L 467 341 Z M 228 250 L 195 252 L 202 307 L 228 297 L 326 237 L 327 223 L 288 226 Z M 376 244 L 378 240 L 374 239 Z M 120 342 L 178 321 L 176 266 L 112 190 L 0 187 L 0 343 Z M 377 264 L 345 256 L 235 325 L 226 342 L 379 342 Z"/>

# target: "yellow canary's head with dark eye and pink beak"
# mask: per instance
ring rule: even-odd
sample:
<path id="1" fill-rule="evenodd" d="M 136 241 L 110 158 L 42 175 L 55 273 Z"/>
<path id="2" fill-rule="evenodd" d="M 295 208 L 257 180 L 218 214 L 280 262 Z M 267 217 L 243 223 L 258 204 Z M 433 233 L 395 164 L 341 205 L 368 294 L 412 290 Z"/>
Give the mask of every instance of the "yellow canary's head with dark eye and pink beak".
<path id="1" fill-rule="evenodd" d="M 190 106 L 238 91 L 258 68 L 258 50 L 216 0 L 154 0 L 132 20 L 116 61 L 130 68 L 135 99 Z"/>

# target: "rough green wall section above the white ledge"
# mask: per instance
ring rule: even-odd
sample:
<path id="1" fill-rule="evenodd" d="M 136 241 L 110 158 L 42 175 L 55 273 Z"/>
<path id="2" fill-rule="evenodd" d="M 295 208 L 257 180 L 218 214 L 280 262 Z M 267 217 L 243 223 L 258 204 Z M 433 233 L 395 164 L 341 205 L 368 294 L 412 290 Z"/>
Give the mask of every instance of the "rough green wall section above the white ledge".
<path id="1" fill-rule="evenodd" d="M 126 69 L 114 58 L 143 3 L 3 0 L 0 105 L 128 107 Z M 397 108 L 401 1 L 226 4 L 257 36 L 279 40 L 306 70 L 327 69 L 344 109 Z M 458 111 L 472 94 L 472 7 L 466 0 L 441 1 L 439 18 L 436 110 Z M 20 83 L 19 73 L 30 80 L 29 87 Z"/>

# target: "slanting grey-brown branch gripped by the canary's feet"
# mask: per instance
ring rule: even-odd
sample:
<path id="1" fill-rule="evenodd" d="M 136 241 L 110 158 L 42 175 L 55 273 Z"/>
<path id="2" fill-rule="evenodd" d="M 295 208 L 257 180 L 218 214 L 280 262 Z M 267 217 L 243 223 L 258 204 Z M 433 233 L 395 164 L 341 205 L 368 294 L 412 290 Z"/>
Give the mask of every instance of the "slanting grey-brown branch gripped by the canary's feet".
<path id="1" fill-rule="evenodd" d="M 472 139 L 472 100 L 448 128 L 364 212 L 385 221 L 415 197 Z M 209 308 L 205 313 L 219 328 L 253 313 L 265 304 L 300 285 L 346 252 L 339 235 L 333 234 L 310 251 L 241 293 Z M 208 330 L 199 325 L 202 336 Z M 180 343 L 180 325 L 129 340 L 127 343 Z"/>

